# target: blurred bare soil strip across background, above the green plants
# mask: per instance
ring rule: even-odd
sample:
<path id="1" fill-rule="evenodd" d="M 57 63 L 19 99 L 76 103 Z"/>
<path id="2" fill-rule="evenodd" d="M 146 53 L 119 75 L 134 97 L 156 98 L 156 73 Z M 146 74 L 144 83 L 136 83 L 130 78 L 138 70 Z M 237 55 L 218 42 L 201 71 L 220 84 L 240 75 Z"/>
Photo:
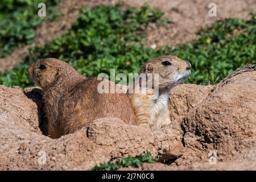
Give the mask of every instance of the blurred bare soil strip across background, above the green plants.
<path id="1" fill-rule="evenodd" d="M 200 28 L 225 18 L 250 18 L 251 12 L 256 12 L 255 0 L 216 0 L 217 16 L 208 15 L 209 3 L 205 0 L 63 0 L 59 3 L 60 16 L 54 22 L 45 22 L 36 30 L 35 44 L 16 49 L 11 55 L 0 59 L 0 71 L 12 69 L 22 61 L 22 57 L 28 53 L 28 48 L 35 45 L 43 45 L 48 40 L 55 39 L 56 36 L 64 34 L 72 22 L 79 16 L 82 6 L 114 5 L 122 3 L 124 7 L 139 7 L 144 3 L 158 7 L 163 11 L 163 18 L 172 20 L 172 24 L 166 27 L 158 27 L 151 24 L 150 30 L 146 34 L 146 46 L 159 48 L 165 44 L 173 46 L 175 44 L 191 42 L 195 40 Z"/>

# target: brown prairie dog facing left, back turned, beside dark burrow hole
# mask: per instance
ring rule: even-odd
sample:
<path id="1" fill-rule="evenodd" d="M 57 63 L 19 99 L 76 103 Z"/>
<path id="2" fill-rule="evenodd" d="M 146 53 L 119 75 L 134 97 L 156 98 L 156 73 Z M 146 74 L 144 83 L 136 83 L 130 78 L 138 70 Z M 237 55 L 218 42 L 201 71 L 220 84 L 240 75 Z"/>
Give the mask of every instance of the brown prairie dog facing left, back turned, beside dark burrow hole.
<path id="1" fill-rule="evenodd" d="M 100 118 L 135 123 L 134 111 L 125 93 L 98 93 L 100 80 L 86 78 L 64 61 L 44 59 L 31 64 L 27 70 L 30 80 L 44 92 L 51 138 L 74 133 Z"/>

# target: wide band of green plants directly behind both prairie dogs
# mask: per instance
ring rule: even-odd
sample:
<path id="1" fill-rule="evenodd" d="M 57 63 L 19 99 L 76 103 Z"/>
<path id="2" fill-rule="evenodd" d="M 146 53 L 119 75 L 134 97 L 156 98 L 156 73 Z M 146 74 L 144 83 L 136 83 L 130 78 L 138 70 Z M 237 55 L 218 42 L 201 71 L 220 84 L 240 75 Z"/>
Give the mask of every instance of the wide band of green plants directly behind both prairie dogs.
<path id="1" fill-rule="evenodd" d="M 186 82 L 215 84 L 246 63 L 256 60 L 256 16 L 250 20 L 226 19 L 203 28 L 192 43 L 160 49 L 144 46 L 144 31 L 162 13 L 148 6 L 121 9 L 119 6 L 85 7 L 66 34 L 44 46 L 30 49 L 24 63 L 0 73 L 0 84 L 31 86 L 26 65 L 46 57 L 68 62 L 86 76 L 99 73 L 137 73 L 141 65 L 154 57 L 174 54 L 192 64 Z"/>

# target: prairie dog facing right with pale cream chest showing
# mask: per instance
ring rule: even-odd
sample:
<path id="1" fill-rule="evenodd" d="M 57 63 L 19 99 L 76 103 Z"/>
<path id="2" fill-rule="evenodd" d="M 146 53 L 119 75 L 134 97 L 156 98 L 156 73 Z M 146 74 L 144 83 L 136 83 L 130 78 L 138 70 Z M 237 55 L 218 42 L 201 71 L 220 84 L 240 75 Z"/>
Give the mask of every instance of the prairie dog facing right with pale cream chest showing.
<path id="1" fill-rule="evenodd" d="M 148 75 L 151 74 L 154 79 L 154 74 L 158 73 L 159 94 L 156 95 L 152 90 L 154 83 L 152 89 L 146 88 L 146 93 L 128 93 L 136 116 L 136 125 L 158 130 L 163 125 L 171 123 L 168 108 L 170 89 L 190 75 L 190 68 L 191 64 L 188 61 L 173 55 L 157 57 L 143 65 L 140 74 L 145 73 L 146 80 L 151 79 Z"/>

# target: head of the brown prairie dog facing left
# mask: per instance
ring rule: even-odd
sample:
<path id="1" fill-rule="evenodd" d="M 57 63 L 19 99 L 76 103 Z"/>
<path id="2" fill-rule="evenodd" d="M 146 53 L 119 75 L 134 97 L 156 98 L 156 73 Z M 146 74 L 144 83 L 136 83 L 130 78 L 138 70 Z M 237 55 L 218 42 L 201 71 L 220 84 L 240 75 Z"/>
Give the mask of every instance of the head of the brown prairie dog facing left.
<path id="1" fill-rule="evenodd" d="M 76 75 L 77 73 L 68 63 L 54 58 L 43 59 L 31 64 L 28 66 L 27 72 L 30 80 L 40 86 L 43 91 L 56 84 L 60 78 Z"/>

